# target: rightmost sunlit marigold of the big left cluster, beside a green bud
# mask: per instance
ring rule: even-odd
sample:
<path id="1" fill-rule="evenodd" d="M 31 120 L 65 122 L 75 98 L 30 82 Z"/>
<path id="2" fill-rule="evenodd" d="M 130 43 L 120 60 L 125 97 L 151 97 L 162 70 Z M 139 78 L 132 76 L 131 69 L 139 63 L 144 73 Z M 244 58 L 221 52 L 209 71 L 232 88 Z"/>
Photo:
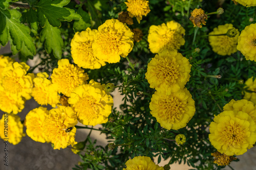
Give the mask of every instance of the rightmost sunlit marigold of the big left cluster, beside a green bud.
<path id="1" fill-rule="evenodd" d="M 94 80 L 75 88 L 68 102 L 77 113 L 79 122 L 91 126 L 108 122 L 113 106 L 113 98 L 106 94 L 104 85 Z"/>

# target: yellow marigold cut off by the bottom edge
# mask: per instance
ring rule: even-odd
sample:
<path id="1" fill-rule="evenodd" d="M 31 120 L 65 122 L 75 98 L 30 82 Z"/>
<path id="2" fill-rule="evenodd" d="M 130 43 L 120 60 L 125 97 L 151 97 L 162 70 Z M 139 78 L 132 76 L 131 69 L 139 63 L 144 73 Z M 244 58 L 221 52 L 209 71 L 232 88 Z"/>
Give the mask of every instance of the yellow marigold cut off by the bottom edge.
<path id="1" fill-rule="evenodd" d="M 156 165 L 150 157 L 136 156 L 133 159 L 129 159 L 125 163 L 126 168 L 123 170 L 164 170 L 162 166 Z"/>

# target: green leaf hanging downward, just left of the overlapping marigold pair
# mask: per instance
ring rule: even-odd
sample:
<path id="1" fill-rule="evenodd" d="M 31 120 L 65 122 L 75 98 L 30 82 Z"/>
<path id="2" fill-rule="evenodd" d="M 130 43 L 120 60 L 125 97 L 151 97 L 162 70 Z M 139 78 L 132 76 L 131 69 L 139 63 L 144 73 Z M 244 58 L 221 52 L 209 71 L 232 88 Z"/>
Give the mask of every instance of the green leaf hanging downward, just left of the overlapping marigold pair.
<path id="1" fill-rule="evenodd" d="M 46 20 L 45 28 L 40 32 L 40 41 L 45 42 L 45 49 L 48 54 L 53 52 L 57 59 L 61 59 L 63 39 L 60 36 L 60 30 L 50 25 Z"/>

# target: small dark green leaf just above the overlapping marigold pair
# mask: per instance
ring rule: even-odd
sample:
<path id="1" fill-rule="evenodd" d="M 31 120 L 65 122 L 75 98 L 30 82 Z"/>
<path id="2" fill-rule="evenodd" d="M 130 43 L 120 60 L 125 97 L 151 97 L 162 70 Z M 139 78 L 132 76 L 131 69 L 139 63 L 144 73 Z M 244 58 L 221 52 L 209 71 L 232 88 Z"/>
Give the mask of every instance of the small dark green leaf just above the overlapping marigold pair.
<path id="1" fill-rule="evenodd" d="M 81 32 L 86 30 L 88 27 L 91 27 L 91 17 L 86 12 L 83 11 L 82 8 L 78 8 L 77 13 L 81 15 L 81 19 L 75 20 L 73 30 L 74 32 Z"/>

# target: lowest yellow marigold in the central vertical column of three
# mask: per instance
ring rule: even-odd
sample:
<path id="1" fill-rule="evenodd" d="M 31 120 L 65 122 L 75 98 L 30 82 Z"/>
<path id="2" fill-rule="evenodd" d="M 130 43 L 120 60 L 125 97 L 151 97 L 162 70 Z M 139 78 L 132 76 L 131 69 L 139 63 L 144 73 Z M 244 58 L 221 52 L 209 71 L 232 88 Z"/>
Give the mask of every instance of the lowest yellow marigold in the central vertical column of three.
<path id="1" fill-rule="evenodd" d="M 168 130 L 184 128 L 196 112 L 195 101 L 186 88 L 170 95 L 156 91 L 150 102 L 150 110 L 157 122 Z"/>

